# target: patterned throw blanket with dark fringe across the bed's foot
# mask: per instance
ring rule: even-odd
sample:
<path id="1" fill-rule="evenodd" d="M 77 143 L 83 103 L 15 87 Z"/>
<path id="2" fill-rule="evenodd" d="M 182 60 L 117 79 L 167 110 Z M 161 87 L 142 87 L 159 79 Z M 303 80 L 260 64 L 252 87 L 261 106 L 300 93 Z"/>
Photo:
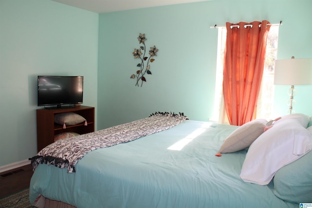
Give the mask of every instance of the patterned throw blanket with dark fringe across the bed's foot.
<path id="1" fill-rule="evenodd" d="M 45 147 L 36 156 L 30 158 L 31 164 L 34 170 L 39 163 L 45 163 L 59 168 L 67 168 L 67 172 L 76 172 L 75 165 L 90 151 L 111 147 L 161 132 L 187 119 L 188 117 L 184 116 L 183 113 L 177 115 L 175 113 L 159 112 L 130 123 L 61 139 Z"/>

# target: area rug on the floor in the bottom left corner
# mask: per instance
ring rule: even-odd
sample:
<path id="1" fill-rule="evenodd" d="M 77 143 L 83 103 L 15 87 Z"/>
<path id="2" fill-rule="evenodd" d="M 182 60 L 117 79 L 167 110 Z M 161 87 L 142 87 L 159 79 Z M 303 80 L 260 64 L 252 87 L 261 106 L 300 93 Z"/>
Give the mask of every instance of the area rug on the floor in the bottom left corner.
<path id="1" fill-rule="evenodd" d="M 0 198 L 0 208 L 36 208 L 29 203 L 29 189 Z"/>

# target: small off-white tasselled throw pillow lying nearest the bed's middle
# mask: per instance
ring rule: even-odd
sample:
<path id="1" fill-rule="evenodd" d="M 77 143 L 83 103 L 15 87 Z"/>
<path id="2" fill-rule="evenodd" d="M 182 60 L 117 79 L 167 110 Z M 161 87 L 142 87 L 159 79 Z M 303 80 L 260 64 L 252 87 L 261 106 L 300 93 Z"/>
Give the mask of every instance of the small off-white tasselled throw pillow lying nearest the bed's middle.
<path id="1" fill-rule="evenodd" d="M 260 118 L 240 126 L 224 140 L 219 152 L 229 153 L 248 148 L 264 132 L 267 122 Z"/>

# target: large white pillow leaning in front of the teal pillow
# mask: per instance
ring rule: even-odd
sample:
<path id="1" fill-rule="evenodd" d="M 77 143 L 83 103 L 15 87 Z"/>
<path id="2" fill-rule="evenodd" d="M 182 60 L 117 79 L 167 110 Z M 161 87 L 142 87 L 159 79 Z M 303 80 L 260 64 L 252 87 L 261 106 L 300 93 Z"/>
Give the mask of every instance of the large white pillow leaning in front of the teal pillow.
<path id="1" fill-rule="evenodd" d="M 297 119 L 275 122 L 250 146 L 240 177 L 245 182 L 267 185 L 275 172 L 312 149 L 311 133 Z"/>

